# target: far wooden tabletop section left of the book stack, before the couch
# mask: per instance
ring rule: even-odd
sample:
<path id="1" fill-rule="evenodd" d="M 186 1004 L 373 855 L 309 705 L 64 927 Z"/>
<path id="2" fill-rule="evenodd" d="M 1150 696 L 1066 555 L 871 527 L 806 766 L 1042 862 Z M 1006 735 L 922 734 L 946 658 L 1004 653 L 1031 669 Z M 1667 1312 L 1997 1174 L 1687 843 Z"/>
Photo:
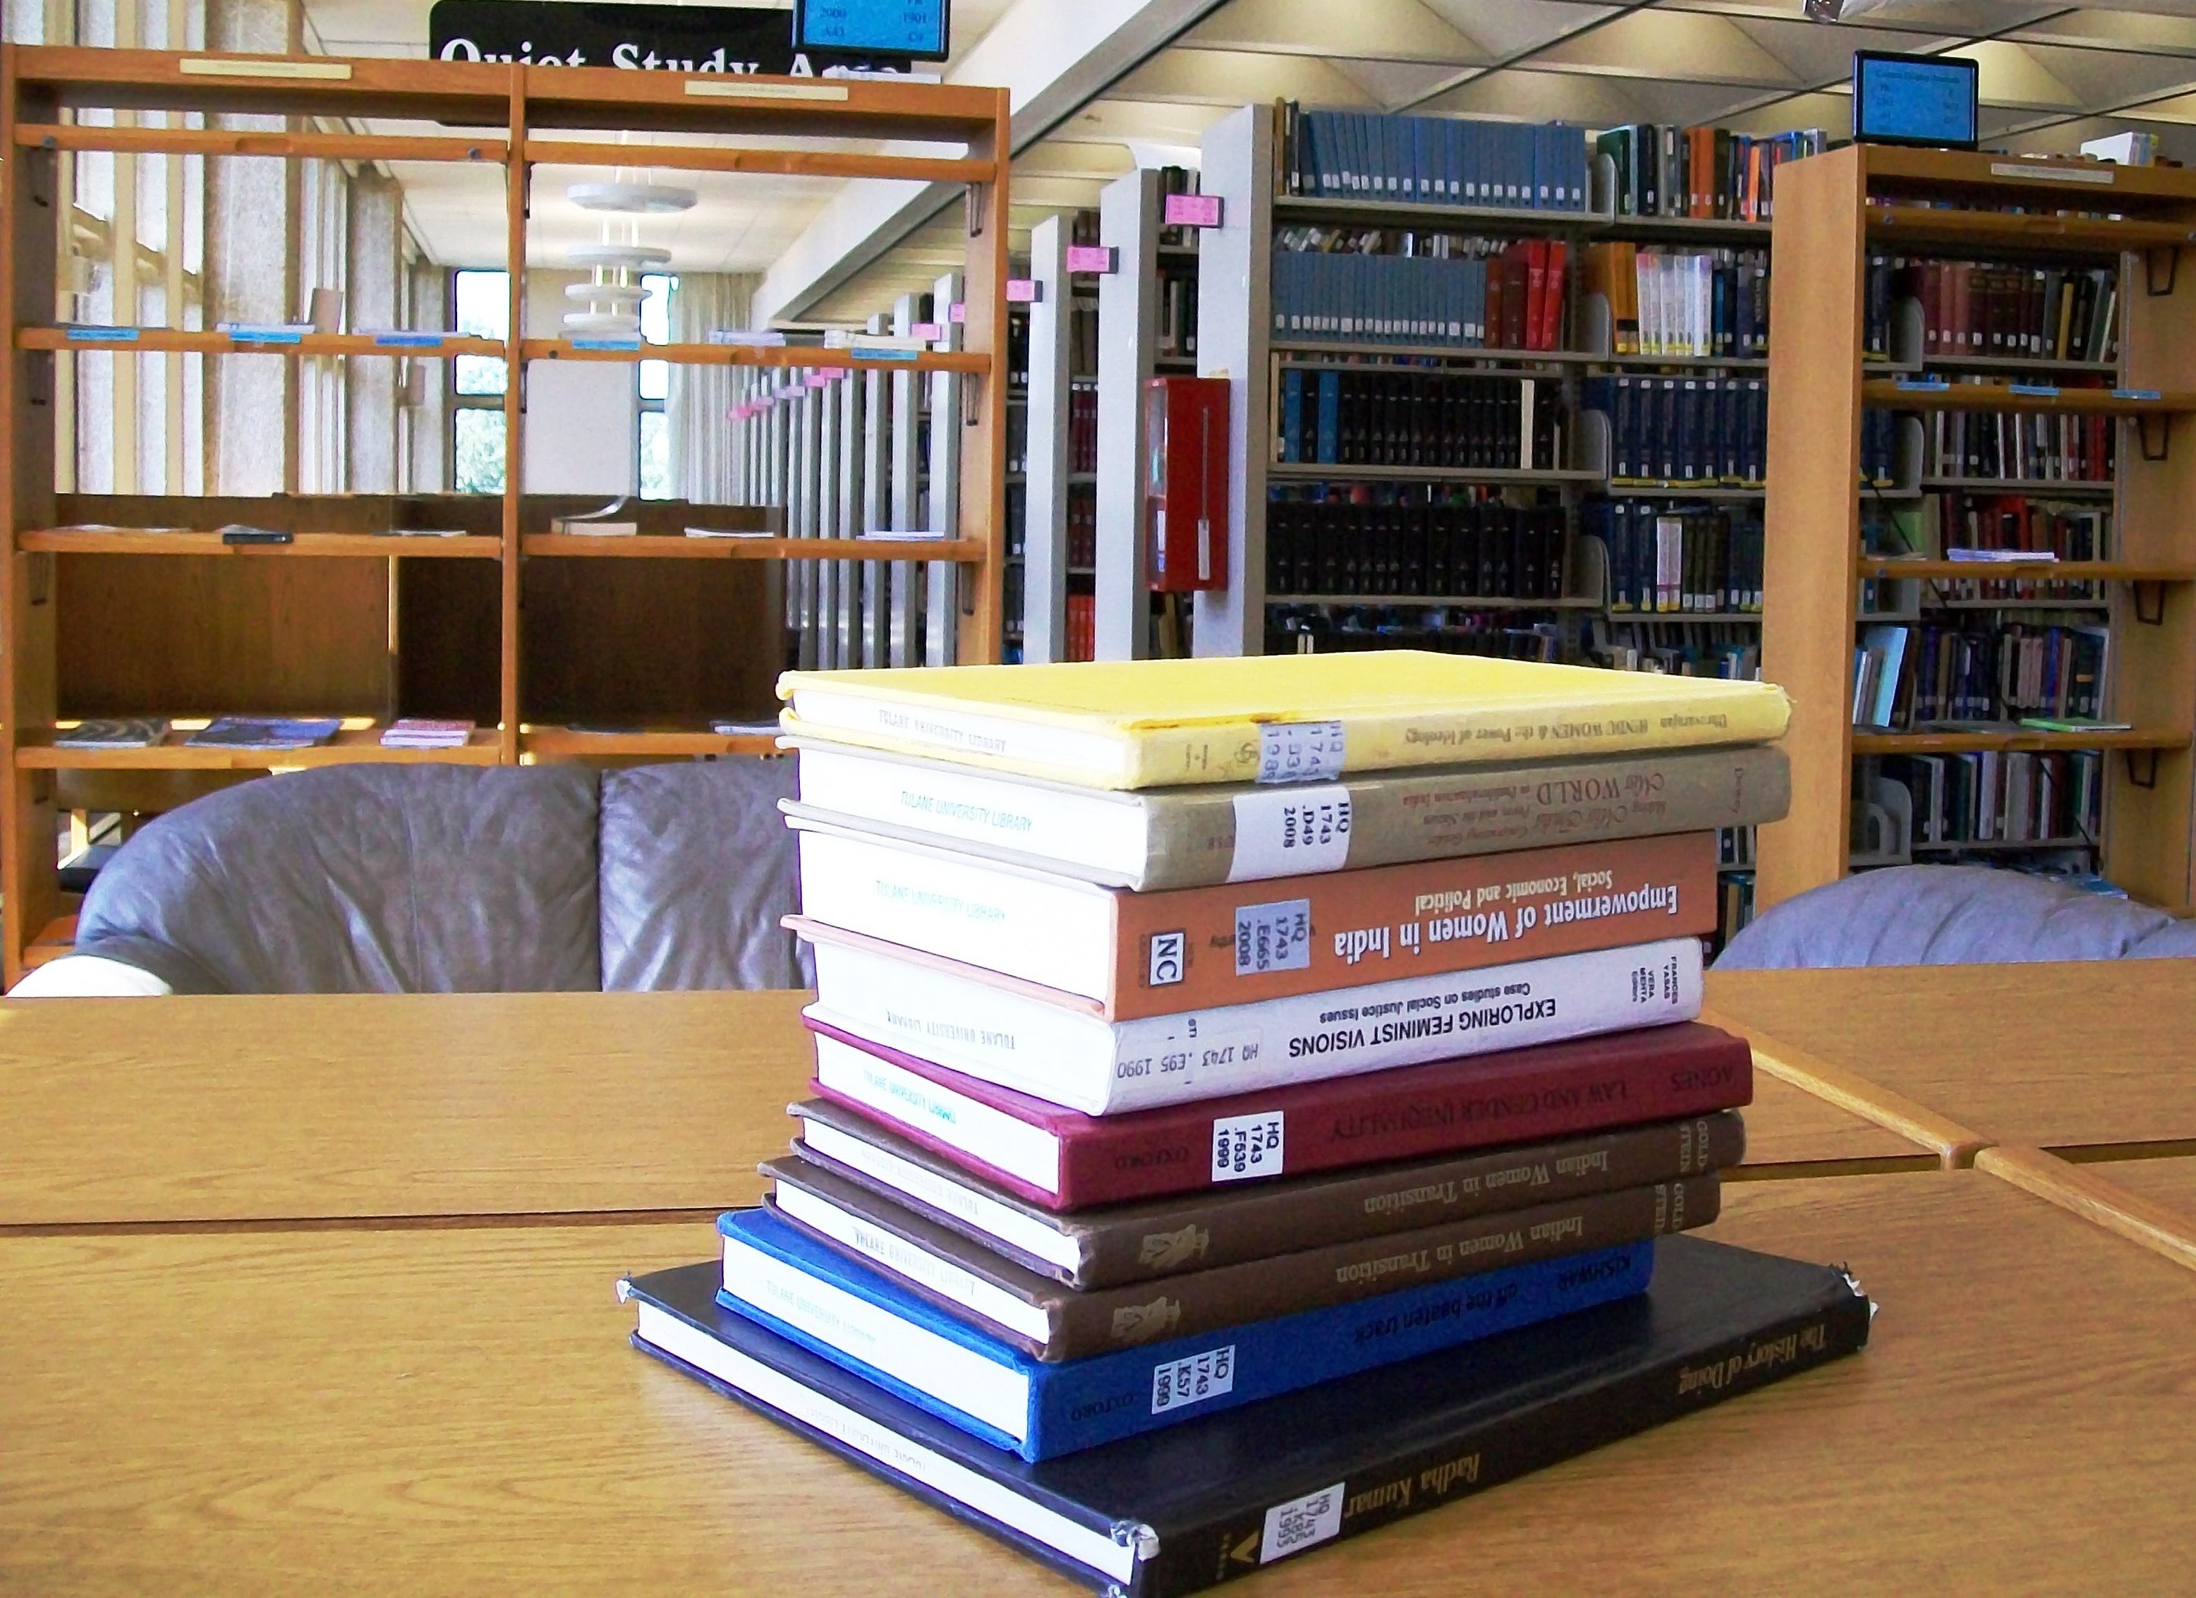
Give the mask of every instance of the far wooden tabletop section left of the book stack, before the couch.
<path id="1" fill-rule="evenodd" d="M 0 1225 L 753 1203 L 799 992 L 0 1003 Z"/>

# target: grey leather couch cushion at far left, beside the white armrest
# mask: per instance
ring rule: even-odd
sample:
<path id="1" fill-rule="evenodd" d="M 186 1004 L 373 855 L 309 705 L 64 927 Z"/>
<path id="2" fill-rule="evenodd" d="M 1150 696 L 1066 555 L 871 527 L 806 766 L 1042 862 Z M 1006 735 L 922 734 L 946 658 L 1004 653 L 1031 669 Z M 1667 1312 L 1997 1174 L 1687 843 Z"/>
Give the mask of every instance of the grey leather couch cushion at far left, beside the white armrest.
<path id="1" fill-rule="evenodd" d="M 595 773 L 327 766 L 226 788 L 123 845 L 77 953 L 176 992 L 591 990 Z"/>

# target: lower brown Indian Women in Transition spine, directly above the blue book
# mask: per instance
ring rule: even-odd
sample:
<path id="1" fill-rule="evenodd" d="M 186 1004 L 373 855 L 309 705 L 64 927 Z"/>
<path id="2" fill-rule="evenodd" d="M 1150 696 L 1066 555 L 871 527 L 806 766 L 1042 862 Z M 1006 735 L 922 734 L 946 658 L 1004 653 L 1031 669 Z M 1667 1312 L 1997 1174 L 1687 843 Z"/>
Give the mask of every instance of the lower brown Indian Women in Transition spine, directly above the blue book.
<path id="1" fill-rule="evenodd" d="M 1155 1335 L 1195 1337 L 1403 1286 L 1645 1242 L 1711 1225 L 1719 1196 L 1715 1177 L 1693 1177 L 1388 1238 L 1300 1249 L 1166 1282 L 1063 1293 L 1052 1337 L 1043 1348 L 1023 1346 L 1047 1361 L 1089 1359 Z"/>

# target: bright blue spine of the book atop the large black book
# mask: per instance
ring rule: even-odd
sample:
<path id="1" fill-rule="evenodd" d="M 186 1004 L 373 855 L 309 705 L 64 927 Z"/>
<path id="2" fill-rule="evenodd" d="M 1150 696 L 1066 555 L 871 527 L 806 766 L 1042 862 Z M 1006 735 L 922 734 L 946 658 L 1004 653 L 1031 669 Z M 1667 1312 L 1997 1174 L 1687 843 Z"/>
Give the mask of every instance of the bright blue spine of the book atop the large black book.
<path id="1" fill-rule="evenodd" d="M 1654 1245 L 1579 1253 L 1030 1374 L 1026 1460 L 1276 1398 L 1647 1291 Z"/>

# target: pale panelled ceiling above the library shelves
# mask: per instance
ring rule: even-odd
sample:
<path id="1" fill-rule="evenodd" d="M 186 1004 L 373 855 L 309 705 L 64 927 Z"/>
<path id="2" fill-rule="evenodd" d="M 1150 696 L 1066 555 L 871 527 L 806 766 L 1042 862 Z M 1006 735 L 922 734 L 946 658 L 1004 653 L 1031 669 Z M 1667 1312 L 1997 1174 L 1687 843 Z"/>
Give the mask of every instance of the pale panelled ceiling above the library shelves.
<path id="1" fill-rule="evenodd" d="M 955 50 L 977 44 L 1008 4 L 957 0 Z M 329 53 L 424 53 L 426 0 L 307 0 L 305 11 L 316 46 Z M 1994 143 L 2064 151 L 2139 127 L 2167 156 L 2196 165 L 2196 0 L 1891 0 L 1840 24 L 1805 22 L 1801 0 L 1232 0 L 1017 154 L 1012 224 L 1021 241 L 1045 215 L 1094 206 L 1135 165 L 1131 143 L 1195 145 L 1232 108 L 1278 97 L 1388 112 L 1842 134 L 1842 83 L 1860 46 L 1974 57 L 1983 132 Z M 413 226 L 437 259 L 501 257 L 501 206 L 492 187 L 485 204 L 472 195 L 479 173 L 402 176 Z M 832 191 L 821 180 L 709 187 L 694 213 L 650 241 L 668 244 L 685 270 L 762 270 Z M 558 195 L 542 202 L 545 235 L 589 226 L 580 213 L 558 217 Z M 957 261 L 946 213 L 808 314 L 859 320 Z"/>

